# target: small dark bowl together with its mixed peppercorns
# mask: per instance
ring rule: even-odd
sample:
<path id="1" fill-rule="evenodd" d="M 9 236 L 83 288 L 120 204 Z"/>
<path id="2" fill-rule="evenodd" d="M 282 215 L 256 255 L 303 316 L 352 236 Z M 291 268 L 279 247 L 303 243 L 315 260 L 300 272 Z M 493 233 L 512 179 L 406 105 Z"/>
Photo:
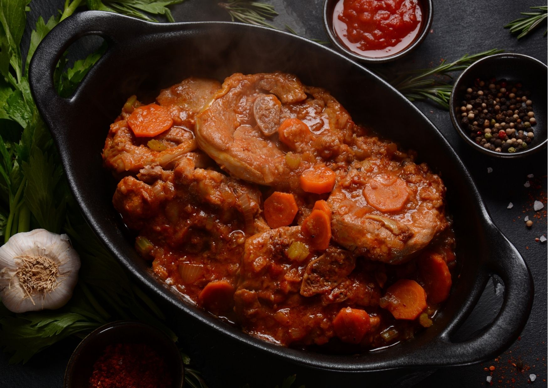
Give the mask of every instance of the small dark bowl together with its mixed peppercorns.
<path id="1" fill-rule="evenodd" d="M 522 54 L 496 54 L 473 63 L 451 93 L 455 129 L 493 157 L 520 158 L 545 148 L 547 69 Z"/>

